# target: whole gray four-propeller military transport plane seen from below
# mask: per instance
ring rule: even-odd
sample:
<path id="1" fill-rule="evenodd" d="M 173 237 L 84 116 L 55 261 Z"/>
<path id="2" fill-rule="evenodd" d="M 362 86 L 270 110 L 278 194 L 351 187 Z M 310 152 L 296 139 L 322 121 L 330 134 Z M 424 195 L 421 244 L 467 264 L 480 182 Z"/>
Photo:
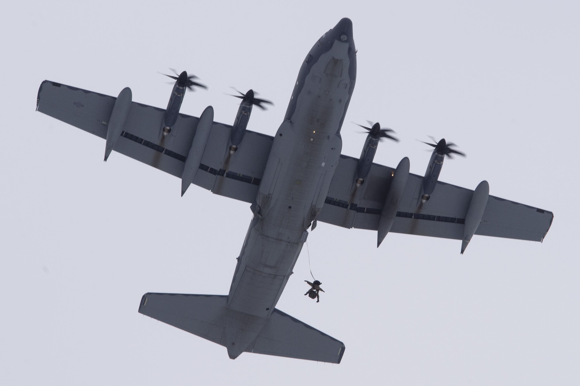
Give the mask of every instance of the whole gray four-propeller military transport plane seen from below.
<path id="1" fill-rule="evenodd" d="M 284 121 L 274 137 L 246 130 L 252 105 L 241 94 L 234 125 L 179 113 L 186 72 L 166 110 L 44 81 L 37 110 L 106 139 L 112 150 L 215 194 L 251 203 L 253 219 L 227 295 L 146 293 L 139 312 L 227 348 L 230 358 L 256 352 L 340 363 L 345 345 L 274 308 L 317 221 L 346 228 L 458 239 L 473 235 L 542 241 L 553 215 L 489 194 L 437 181 L 448 145 L 437 144 L 425 177 L 372 163 L 387 129 L 369 130 L 360 159 L 341 155 L 340 128 L 356 80 L 353 26 L 342 19 L 314 44 L 302 63 Z"/>

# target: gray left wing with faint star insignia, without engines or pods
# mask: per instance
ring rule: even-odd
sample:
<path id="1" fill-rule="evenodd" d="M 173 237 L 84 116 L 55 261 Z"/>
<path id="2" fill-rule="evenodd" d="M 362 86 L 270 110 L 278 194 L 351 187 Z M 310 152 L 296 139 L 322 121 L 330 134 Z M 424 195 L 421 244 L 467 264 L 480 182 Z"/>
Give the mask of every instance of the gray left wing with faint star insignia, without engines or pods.
<path id="1" fill-rule="evenodd" d="M 44 81 L 37 110 L 105 139 L 107 121 L 117 98 Z M 124 131 L 114 150 L 181 178 L 198 118 L 179 114 L 168 136 L 162 136 L 165 110 L 132 102 Z M 246 130 L 238 151 L 229 157 L 231 126 L 213 122 L 200 169 L 193 183 L 216 194 L 254 202 L 273 138 Z M 104 143 L 103 143 L 104 152 Z M 177 189 L 177 188 L 176 188 Z"/>

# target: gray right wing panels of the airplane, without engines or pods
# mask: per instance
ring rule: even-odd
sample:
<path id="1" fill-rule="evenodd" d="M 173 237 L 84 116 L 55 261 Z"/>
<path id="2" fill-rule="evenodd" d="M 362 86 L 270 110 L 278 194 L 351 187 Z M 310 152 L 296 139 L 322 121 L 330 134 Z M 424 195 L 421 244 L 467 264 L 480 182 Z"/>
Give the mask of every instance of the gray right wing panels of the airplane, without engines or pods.
<path id="1" fill-rule="evenodd" d="M 374 163 L 353 194 L 358 159 L 341 155 L 317 220 L 345 228 L 377 230 L 395 169 Z M 429 201 L 420 205 L 423 177 L 409 173 L 391 232 L 462 239 L 473 190 L 438 181 Z M 476 235 L 542 241 L 552 212 L 491 196 Z"/>

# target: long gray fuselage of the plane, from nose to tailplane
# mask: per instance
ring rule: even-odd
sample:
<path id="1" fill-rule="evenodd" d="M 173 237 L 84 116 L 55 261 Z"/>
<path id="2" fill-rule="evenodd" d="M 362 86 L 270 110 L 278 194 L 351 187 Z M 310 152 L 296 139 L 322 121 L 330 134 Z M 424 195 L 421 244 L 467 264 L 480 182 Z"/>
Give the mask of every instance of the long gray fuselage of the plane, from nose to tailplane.
<path id="1" fill-rule="evenodd" d="M 342 19 L 307 55 L 274 137 L 228 296 L 234 311 L 267 318 L 274 310 L 324 205 L 355 79 L 352 23 Z"/>

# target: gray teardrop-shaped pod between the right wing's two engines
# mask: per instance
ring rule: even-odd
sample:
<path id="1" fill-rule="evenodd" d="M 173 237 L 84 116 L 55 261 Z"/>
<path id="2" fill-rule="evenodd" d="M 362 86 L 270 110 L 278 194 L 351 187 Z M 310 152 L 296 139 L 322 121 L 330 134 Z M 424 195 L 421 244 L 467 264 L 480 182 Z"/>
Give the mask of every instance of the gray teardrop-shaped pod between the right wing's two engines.
<path id="1" fill-rule="evenodd" d="M 407 185 L 410 165 L 409 159 L 405 157 L 401 159 L 401 162 L 399 162 L 397 169 L 395 170 L 395 175 L 391 181 L 389 192 L 387 193 L 387 198 L 383 204 L 383 210 L 380 212 L 379 229 L 376 241 L 377 248 L 380 243 L 383 242 L 387 233 L 391 230 L 395 217 L 397 216 L 398 205 L 401 202 L 401 198 L 403 198 L 405 185 Z"/>

